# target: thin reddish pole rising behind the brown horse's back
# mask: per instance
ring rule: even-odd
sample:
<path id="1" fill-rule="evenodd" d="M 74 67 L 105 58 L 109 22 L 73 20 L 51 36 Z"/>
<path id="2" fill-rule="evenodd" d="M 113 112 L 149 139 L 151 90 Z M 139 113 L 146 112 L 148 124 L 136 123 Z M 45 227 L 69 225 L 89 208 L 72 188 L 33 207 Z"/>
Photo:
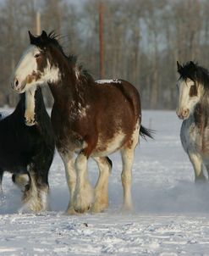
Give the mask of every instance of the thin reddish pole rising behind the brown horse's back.
<path id="1" fill-rule="evenodd" d="M 104 3 L 99 1 L 100 79 L 104 79 Z"/>

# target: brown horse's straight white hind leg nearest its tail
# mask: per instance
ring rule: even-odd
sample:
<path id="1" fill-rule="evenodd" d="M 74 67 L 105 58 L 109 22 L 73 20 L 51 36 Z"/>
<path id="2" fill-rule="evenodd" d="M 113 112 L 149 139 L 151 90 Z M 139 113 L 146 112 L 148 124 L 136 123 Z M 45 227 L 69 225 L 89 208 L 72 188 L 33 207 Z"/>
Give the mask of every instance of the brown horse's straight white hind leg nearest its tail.
<path id="1" fill-rule="evenodd" d="M 124 188 L 124 210 L 132 209 L 131 183 L 132 183 L 132 165 L 135 156 L 135 147 L 139 141 L 140 127 L 136 126 L 129 142 L 121 149 L 123 161 L 123 171 L 121 174 L 122 185 Z"/>

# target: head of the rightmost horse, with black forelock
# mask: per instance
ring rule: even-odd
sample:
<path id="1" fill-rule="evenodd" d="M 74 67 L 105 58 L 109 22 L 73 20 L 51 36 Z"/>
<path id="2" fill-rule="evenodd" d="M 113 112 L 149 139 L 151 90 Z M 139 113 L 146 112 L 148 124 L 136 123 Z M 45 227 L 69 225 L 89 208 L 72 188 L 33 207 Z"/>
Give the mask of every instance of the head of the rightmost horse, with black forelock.
<path id="1" fill-rule="evenodd" d="M 176 114 L 186 120 L 193 113 L 195 105 L 200 102 L 203 85 L 200 79 L 200 67 L 190 61 L 184 65 L 177 62 L 179 80 L 177 81 L 178 104 Z"/>

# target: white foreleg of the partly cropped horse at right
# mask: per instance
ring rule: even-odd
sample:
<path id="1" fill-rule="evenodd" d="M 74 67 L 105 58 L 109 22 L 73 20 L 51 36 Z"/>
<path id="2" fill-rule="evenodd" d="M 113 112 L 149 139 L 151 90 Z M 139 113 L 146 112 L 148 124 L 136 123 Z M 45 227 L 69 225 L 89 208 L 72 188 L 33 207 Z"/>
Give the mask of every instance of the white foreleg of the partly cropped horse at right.
<path id="1" fill-rule="evenodd" d="M 199 153 L 188 153 L 191 164 L 195 170 L 195 181 L 206 181 L 206 177 L 203 173 L 202 158 Z"/>

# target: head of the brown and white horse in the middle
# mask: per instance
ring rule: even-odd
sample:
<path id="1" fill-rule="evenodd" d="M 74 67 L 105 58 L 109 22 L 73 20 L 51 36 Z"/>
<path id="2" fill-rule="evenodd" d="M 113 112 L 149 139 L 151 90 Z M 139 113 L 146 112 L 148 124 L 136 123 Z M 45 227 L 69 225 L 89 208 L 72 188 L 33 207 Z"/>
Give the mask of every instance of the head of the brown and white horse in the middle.
<path id="1" fill-rule="evenodd" d="M 29 31 L 30 47 L 22 54 L 14 69 L 11 86 L 22 93 L 31 88 L 58 80 L 58 67 L 52 63 L 50 43 L 55 36 L 42 31 L 41 36 L 33 36 Z"/>

